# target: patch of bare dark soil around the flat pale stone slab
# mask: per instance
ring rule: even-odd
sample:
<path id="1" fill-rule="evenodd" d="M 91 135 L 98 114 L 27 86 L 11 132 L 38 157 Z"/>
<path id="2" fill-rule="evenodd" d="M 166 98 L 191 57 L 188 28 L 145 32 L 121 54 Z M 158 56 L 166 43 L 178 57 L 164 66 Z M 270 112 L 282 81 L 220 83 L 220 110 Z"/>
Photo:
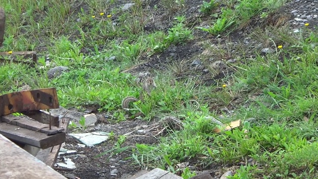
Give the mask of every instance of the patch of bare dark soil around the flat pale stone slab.
<path id="1" fill-rule="evenodd" d="M 116 135 L 127 135 L 127 139 L 121 145 L 134 146 L 136 143 L 143 144 L 156 144 L 158 140 L 155 137 L 151 137 L 138 130 L 152 126 L 154 122 L 146 122 L 142 120 L 123 121 L 118 124 L 97 124 L 95 127 L 90 127 L 85 131 L 77 132 L 114 132 Z M 69 130 L 68 133 L 71 131 Z M 65 168 L 56 167 L 55 169 L 64 176 L 74 175 L 80 179 L 121 179 L 122 176 L 130 176 L 141 170 L 138 165 L 131 165 L 132 159 L 125 160 L 130 157 L 131 151 L 128 149 L 126 152 L 122 152 L 115 156 L 109 154 L 103 155 L 99 158 L 95 158 L 97 155 L 113 149 L 116 146 L 118 138 L 105 141 L 101 144 L 93 147 L 80 147 L 78 142 L 71 136 L 67 135 L 65 146 L 63 148 L 67 150 L 76 150 L 76 154 L 64 154 L 58 157 L 57 163 L 64 162 L 64 158 L 70 158 L 72 162 L 76 164 L 75 170 L 67 170 Z M 113 174 L 111 174 L 113 173 Z"/>

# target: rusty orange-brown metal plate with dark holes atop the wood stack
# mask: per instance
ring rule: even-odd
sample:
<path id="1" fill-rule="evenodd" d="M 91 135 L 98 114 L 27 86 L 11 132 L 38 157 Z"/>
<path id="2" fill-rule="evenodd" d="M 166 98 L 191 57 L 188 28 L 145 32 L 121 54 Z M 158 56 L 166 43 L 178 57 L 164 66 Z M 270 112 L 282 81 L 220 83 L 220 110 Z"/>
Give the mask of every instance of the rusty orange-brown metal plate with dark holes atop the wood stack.
<path id="1" fill-rule="evenodd" d="M 0 116 L 14 112 L 59 108 L 55 88 L 11 92 L 0 95 Z"/>

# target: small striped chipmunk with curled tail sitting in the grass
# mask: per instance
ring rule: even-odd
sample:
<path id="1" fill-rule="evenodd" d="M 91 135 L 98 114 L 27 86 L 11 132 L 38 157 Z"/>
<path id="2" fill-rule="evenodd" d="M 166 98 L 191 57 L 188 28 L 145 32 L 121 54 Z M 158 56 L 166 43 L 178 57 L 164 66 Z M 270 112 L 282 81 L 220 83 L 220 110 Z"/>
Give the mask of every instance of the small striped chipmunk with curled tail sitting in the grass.
<path id="1" fill-rule="evenodd" d="M 157 88 L 156 83 L 155 83 L 155 79 L 152 78 L 152 77 L 145 77 L 144 84 L 143 84 L 143 89 L 140 90 L 139 99 L 141 101 L 143 101 L 143 90 L 145 90 L 147 92 L 147 94 L 150 95 L 151 91 L 153 89 L 155 89 L 155 88 Z M 121 107 L 122 107 L 122 109 L 126 109 L 127 110 L 128 107 L 129 107 L 129 103 L 130 102 L 136 102 L 136 101 L 138 101 L 138 99 L 136 97 L 127 96 L 121 101 Z M 138 112 L 138 113 L 135 114 L 135 117 L 138 117 L 140 115 L 142 115 L 142 113 Z"/>

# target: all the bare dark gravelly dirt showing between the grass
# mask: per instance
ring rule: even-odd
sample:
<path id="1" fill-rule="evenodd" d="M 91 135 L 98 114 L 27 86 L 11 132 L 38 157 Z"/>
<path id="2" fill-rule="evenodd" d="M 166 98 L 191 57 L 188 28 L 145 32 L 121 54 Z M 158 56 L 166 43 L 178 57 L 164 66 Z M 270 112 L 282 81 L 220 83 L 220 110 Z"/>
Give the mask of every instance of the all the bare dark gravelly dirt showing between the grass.
<path id="1" fill-rule="evenodd" d="M 303 2 L 303 1 L 301 1 Z M 306 1 L 307 2 L 307 1 Z M 128 3 L 122 1 L 118 6 L 122 6 L 123 4 Z M 304 2 L 305 3 L 305 2 Z M 187 14 L 187 24 L 188 26 L 205 26 L 208 25 L 202 14 L 199 12 L 199 5 L 202 4 L 201 0 L 192 0 L 191 3 L 188 3 L 187 8 L 185 10 Z M 246 28 L 235 31 L 230 34 L 228 37 L 221 37 L 217 38 L 216 36 L 209 35 L 207 32 L 203 32 L 201 30 L 194 30 L 195 39 L 188 42 L 185 45 L 178 45 L 178 46 L 170 46 L 165 52 L 161 54 L 156 54 L 151 57 L 145 57 L 145 61 L 138 66 L 132 67 L 127 69 L 126 73 L 132 73 L 134 75 L 138 74 L 139 72 L 145 71 L 165 71 L 170 62 L 173 61 L 174 63 L 179 63 L 183 69 L 183 71 L 176 72 L 174 75 L 176 78 L 191 78 L 191 77 L 199 77 L 198 84 L 204 84 L 206 86 L 211 86 L 215 84 L 216 79 L 223 78 L 223 74 L 218 75 L 211 75 L 206 74 L 203 72 L 202 69 L 196 69 L 191 65 L 191 63 L 196 59 L 201 59 L 201 57 L 205 56 L 206 54 L 212 56 L 212 58 L 218 58 L 217 56 L 211 55 L 212 52 L 206 52 L 203 48 L 204 42 L 209 42 L 210 44 L 221 44 L 224 45 L 224 48 L 228 48 L 225 46 L 227 43 L 234 43 L 237 45 L 231 46 L 233 49 L 228 49 L 230 52 L 223 60 L 231 60 L 235 59 L 238 56 L 241 58 L 249 58 L 253 57 L 254 53 L 253 50 L 261 50 L 262 47 L 257 47 L 256 40 L 250 39 L 249 33 L 254 29 L 256 26 L 265 26 L 266 24 L 271 25 L 282 25 L 284 23 L 290 23 L 291 28 L 295 29 L 299 26 L 299 24 L 293 24 L 292 20 L 295 18 L 291 14 L 292 10 L 299 8 L 297 4 L 294 2 L 289 2 L 285 6 L 281 8 L 281 10 L 275 14 L 270 14 L 267 19 L 253 19 Z M 149 22 L 145 26 L 146 31 L 154 31 L 158 29 L 164 29 L 171 27 L 171 14 L 166 12 L 159 3 L 159 0 L 152 0 L 149 4 L 150 7 L 154 7 L 157 5 L 159 7 L 159 11 L 154 13 L 153 20 Z M 82 7 L 85 9 L 85 4 L 76 4 L 76 8 Z M 197 19 L 201 17 L 203 21 L 199 22 Z M 114 17 L 116 18 L 116 17 Z M 114 20 L 114 19 L 112 19 Z M 308 21 L 312 24 L 317 24 L 317 19 L 312 19 Z M 244 41 L 249 41 L 248 44 L 244 43 Z M 247 53 L 240 54 L 238 48 L 244 48 Z M 220 106 L 213 104 L 211 102 L 211 110 L 218 110 Z M 228 108 L 235 108 L 235 101 L 231 104 L 231 106 L 227 106 Z M 95 111 L 92 111 L 95 114 Z M 105 116 L 109 114 L 100 113 L 100 115 Z M 132 132 L 130 136 L 126 139 L 126 142 L 123 144 L 124 146 L 133 146 L 136 143 L 143 143 L 143 144 L 156 144 L 158 142 L 157 137 L 153 137 L 148 134 L 141 134 L 137 132 L 138 130 L 142 129 L 143 127 L 151 127 L 154 124 L 157 124 L 158 120 L 154 120 L 151 122 L 143 121 L 143 120 L 131 120 L 131 121 L 124 121 L 118 124 L 104 124 L 100 123 L 94 127 L 89 127 L 88 131 L 104 131 L 104 132 L 111 132 L 114 131 L 116 135 L 123 135 L 128 132 Z M 158 129 L 160 130 L 160 129 Z M 70 133 L 72 131 L 68 131 Z M 157 131 L 158 132 L 158 131 Z M 123 152 L 118 155 L 110 156 L 109 153 L 99 157 L 97 159 L 93 159 L 93 157 L 97 156 L 98 154 L 105 152 L 107 150 L 111 150 L 114 145 L 116 145 L 116 138 L 113 140 L 109 140 L 98 144 L 93 147 L 79 147 L 78 142 L 72 138 L 71 136 L 67 136 L 67 140 L 65 142 L 65 149 L 68 150 L 76 150 L 78 151 L 76 155 L 74 154 L 65 154 L 61 155 L 58 158 L 57 162 L 60 162 L 60 159 L 63 157 L 71 158 L 72 161 L 76 164 L 76 169 L 74 170 L 66 170 L 59 167 L 56 167 L 59 173 L 63 174 L 64 176 L 71 176 L 74 175 L 79 177 L 80 179 L 125 179 L 130 175 L 134 175 L 142 169 L 145 169 L 145 166 L 138 166 L 138 165 L 131 165 L 133 160 L 125 160 L 125 158 L 130 157 L 131 153 Z M 202 170 L 209 170 L 211 174 L 214 175 L 215 179 L 219 179 L 220 176 L 227 171 L 228 168 L 233 170 L 239 168 L 239 164 L 237 166 L 218 166 L 218 165 L 211 165 L 209 168 L 206 169 L 198 169 L 199 171 Z M 111 171 L 117 170 L 115 172 L 116 176 L 112 176 Z M 72 178 L 72 176 L 70 177 Z"/>

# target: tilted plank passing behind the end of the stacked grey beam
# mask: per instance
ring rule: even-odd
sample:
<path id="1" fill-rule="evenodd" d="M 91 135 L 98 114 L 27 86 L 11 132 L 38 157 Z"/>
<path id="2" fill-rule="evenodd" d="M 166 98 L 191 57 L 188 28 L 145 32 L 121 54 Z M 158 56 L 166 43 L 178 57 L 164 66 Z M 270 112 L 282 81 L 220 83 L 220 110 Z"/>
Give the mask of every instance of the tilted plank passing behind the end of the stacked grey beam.
<path id="1" fill-rule="evenodd" d="M 63 127 L 66 131 L 68 126 L 69 126 L 69 119 L 64 119 L 64 121 L 62 121 L 62 119 L 61 119 L 60 126 Z M 52 148 L 40 149 L 40 151 L 36 155 L 36 158 L 38 158 L 44 164 L 53 168 L 54 164 L 56 162 L 56 158 L 60 152 L 61 145 L 62 144 L 54 146 L 53 150 L 52 150 Z M 51 152 L 51 150 L 52 150 L 52 152 Z"/>

